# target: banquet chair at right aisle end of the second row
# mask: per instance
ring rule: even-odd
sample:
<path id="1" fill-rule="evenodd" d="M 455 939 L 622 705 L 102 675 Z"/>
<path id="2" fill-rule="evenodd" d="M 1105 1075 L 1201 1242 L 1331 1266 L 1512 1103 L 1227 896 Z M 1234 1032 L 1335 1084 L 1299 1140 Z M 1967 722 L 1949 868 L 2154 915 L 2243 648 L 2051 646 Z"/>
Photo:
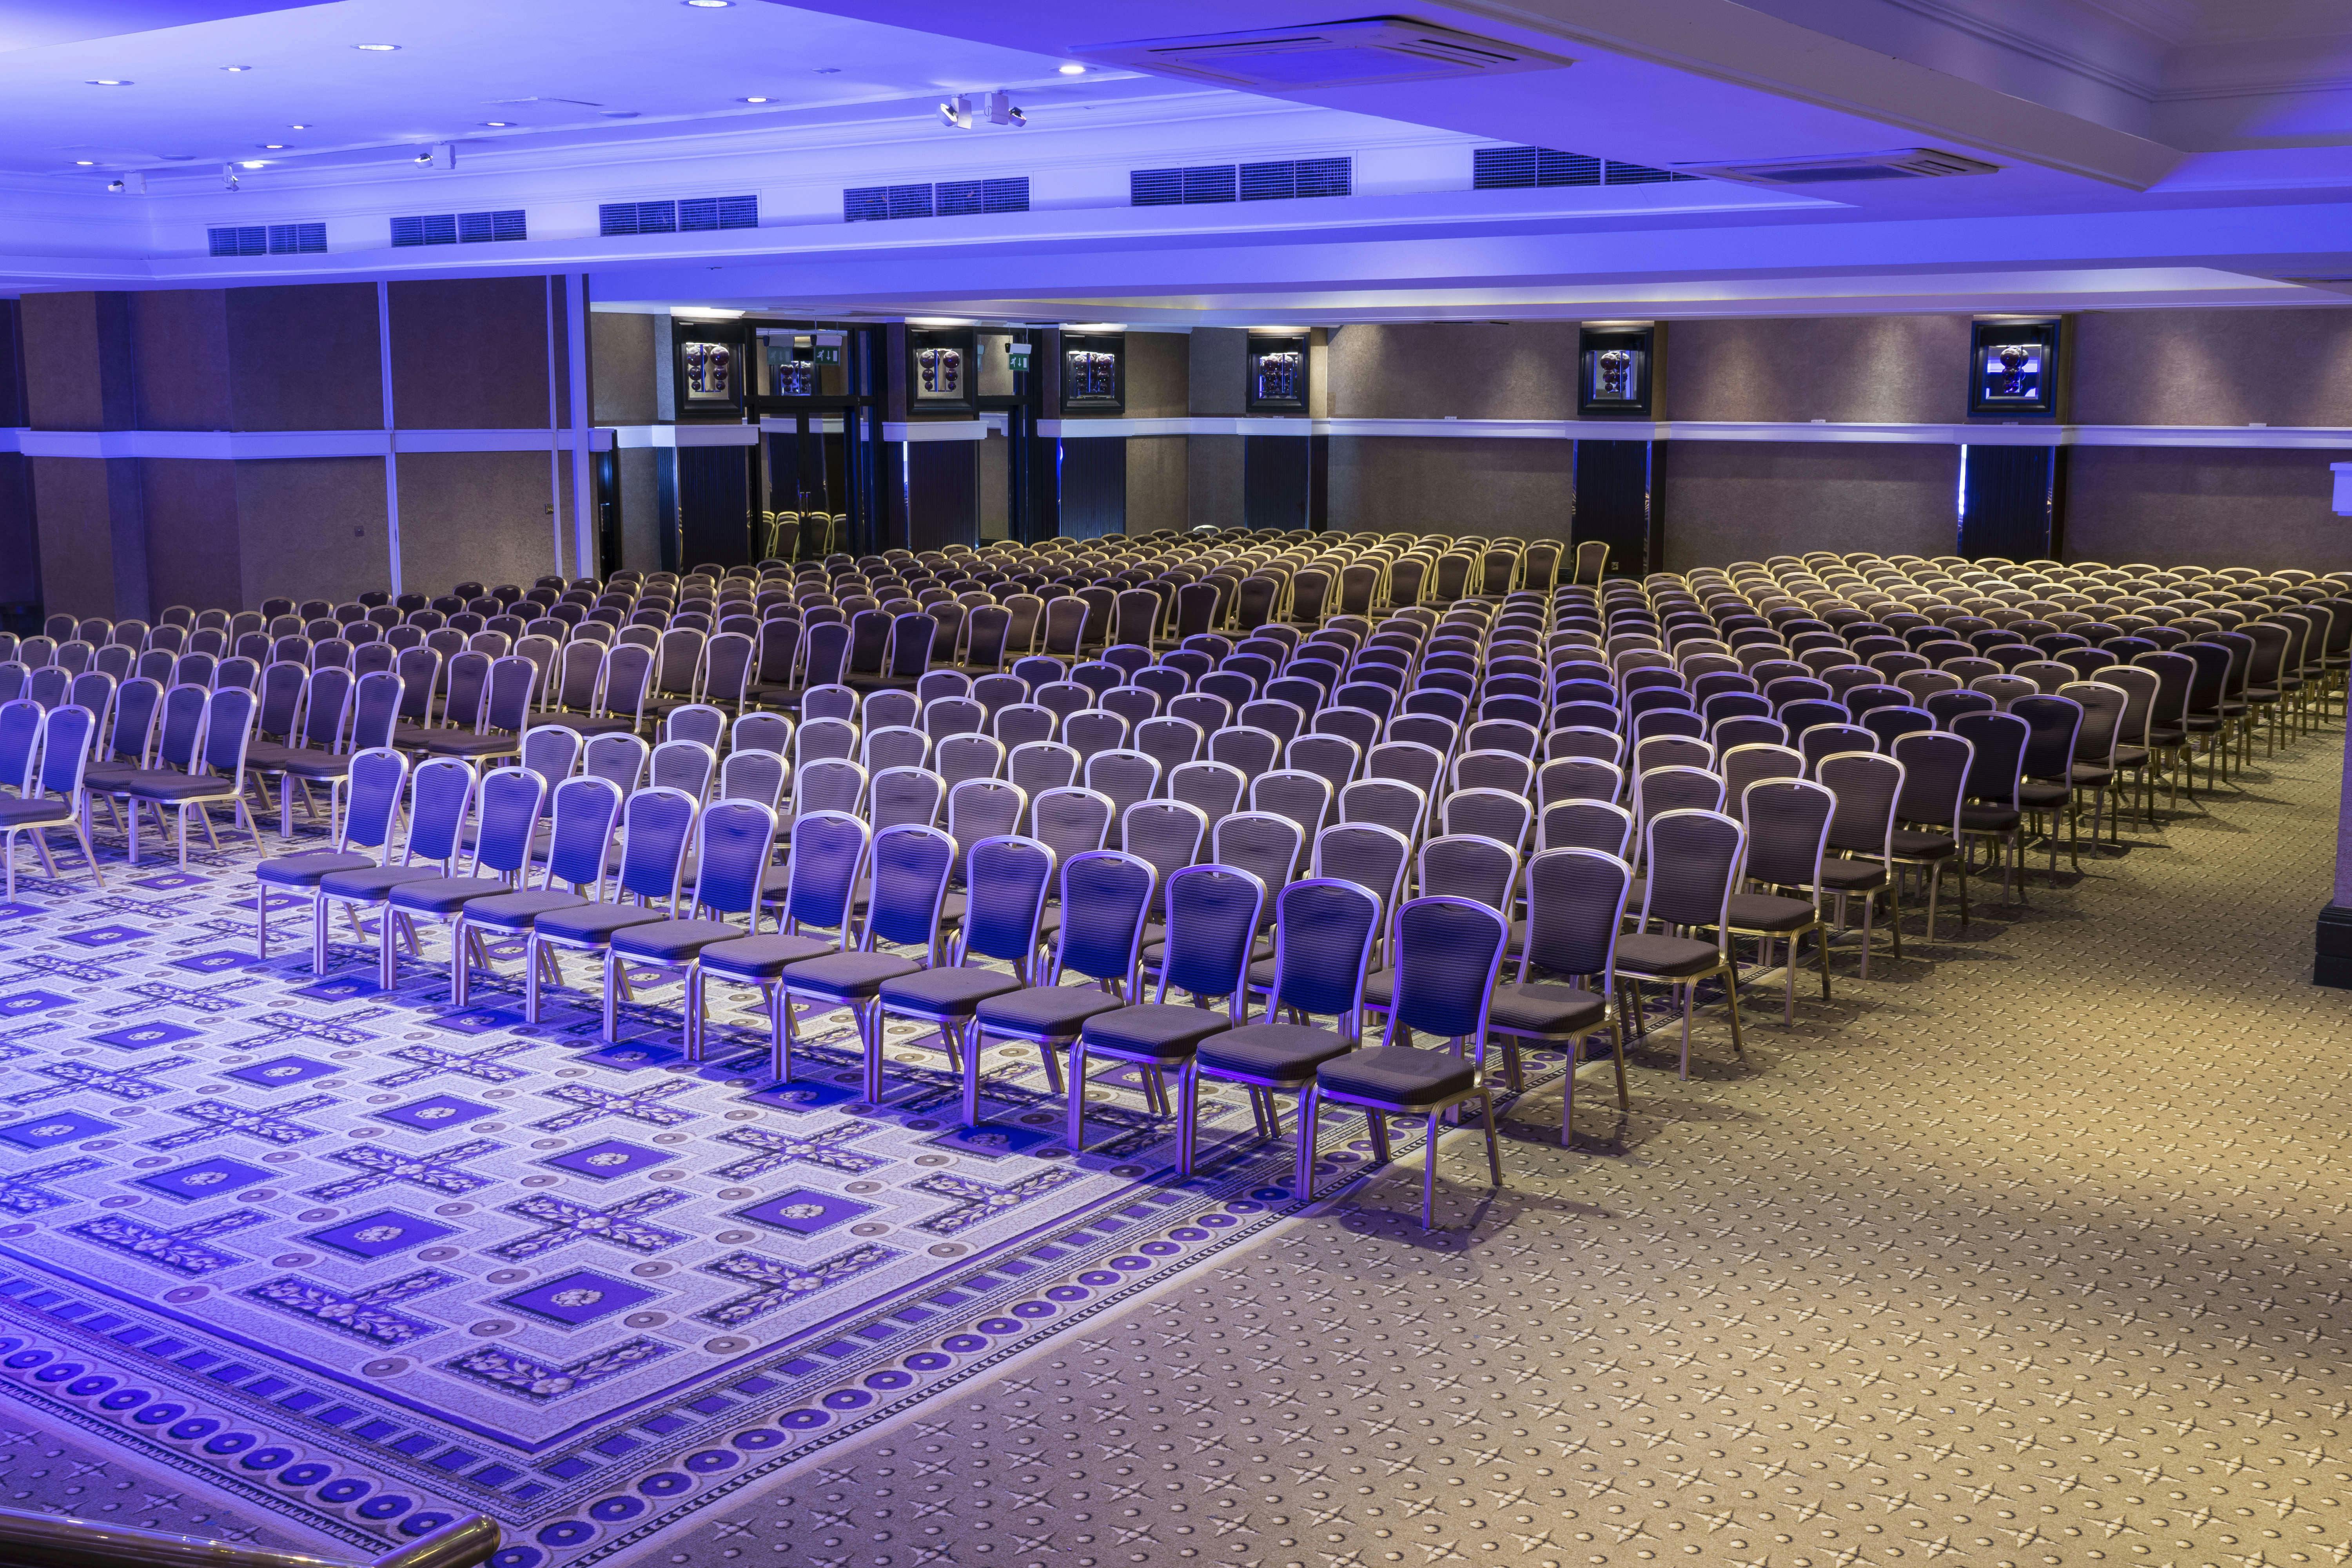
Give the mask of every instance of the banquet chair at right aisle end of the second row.
<path id="1" fill-rule="evenodd" d="M 1616 842 L 1625 844 L 1623 806 L 1566 802 L 1569 809 L 1613 811 Z M 1616 943 L 1625 924 L 1632 867 L 1613 851 L 1559 846 L 1526 863 L 1526 943 L 1519 973 L 1494 992 L 1486 1032 L 1517 1056 L 1519 1041 L 1557 1046 L 1566 1053 L 1559 1105 L 1559 1147 L 1569 1147 L 1576 1117 L 1576 1056 L 1585 1037 L 1609 1030 L 1616 1058 L 1618 1110 L 1625 1093 L 1625 1030 L 1616 1018 Z M 1590 983 L 1590 985 L 1588 985 Z"/>

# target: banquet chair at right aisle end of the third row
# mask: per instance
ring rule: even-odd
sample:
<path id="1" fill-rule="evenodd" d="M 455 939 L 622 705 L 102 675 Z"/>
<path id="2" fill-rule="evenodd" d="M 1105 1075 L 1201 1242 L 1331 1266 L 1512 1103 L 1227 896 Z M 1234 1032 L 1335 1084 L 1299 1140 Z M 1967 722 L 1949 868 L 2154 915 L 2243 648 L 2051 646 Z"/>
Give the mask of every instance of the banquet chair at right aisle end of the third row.
<path id="1" fill-rule="evenodd" d="M 1726 907 L 1738 886 L 1748 835 L 1722 811 L 1661 811 L 1642 823 L 1642 917 L 1618 938 L 1618 980 L 1632 987 L 1621 1013 L 1639 1018 L 1642 980 L 1682 990 L 1682 1077 L 1691 1077 L 1691 1011 L 1700 980 L 1719 980 L 1731 1006 L 1731 1048 L 1740 1044 L 1740 985 L 1731 961 Z M 1651 931 L 1651 922 L 1661 929 Z M 1696 931 L 1715 931 L 1712 943 Z"/>

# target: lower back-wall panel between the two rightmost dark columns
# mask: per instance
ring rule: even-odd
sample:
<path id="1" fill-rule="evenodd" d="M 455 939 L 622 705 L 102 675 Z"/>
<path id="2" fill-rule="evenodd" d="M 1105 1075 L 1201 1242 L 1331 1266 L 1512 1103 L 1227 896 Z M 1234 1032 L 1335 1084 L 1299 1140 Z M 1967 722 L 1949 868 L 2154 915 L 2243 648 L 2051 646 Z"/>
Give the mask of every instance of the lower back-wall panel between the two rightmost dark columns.
<path id="1" fill-rule="evenodd" d="M 1959 447 L 1672 442 L 1665 569 L 1877 550 L 1950 555 Z"/>

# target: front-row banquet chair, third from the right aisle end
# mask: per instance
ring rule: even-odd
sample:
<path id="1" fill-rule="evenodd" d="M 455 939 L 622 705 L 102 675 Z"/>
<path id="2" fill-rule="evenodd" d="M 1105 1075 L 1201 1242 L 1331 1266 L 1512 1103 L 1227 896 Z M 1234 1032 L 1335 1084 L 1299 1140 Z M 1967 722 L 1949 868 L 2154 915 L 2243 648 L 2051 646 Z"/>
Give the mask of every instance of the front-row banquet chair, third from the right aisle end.
<path id="1" fill-rule="evenodd" d="M 1195 1051 L 1249 1011 L 1249 957 L 1265 907 L 1265 884 L 1235 865 L 1185 865 L 1164 879 L 1167 950 L 1150 1001 L 1094 1013 L 1070 1048 L 1070 1152 L 1087 1147 L 1087 1058 L 1108 1056 L 1143 1070 L 1145 1098 L 1160 1074 L 1176 1072 L 1176 1168 L 1192 1175 L 1200 1072 Z M 1063 924 L 1068 931 L 1068 917 Z M 1169 990 L 1192 1006 L 1169 1004 Z M 1223 1009 L 1209 1004 L 1223 1001 Z"/>

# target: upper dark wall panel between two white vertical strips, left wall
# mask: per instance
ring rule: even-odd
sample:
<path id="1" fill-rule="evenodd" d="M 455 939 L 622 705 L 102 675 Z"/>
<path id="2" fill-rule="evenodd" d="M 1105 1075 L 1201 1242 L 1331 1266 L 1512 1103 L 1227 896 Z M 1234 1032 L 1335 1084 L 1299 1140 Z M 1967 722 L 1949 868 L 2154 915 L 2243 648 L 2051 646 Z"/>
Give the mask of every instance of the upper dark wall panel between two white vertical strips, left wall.
<path id="1" fill-rule="evenodd" d="M 543 277 L 395 282 L 388 294 L 400 428 L 548 428 Z"/>

